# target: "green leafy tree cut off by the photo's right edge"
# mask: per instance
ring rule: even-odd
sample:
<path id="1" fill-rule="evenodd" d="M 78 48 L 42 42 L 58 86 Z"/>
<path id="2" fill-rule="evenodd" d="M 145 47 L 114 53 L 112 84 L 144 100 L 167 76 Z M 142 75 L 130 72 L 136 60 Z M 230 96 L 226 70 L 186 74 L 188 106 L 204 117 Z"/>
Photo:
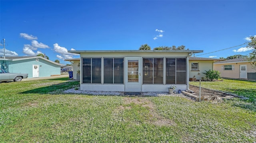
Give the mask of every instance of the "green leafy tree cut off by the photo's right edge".
<path id="1" fill-rule="evenodd" d="M 249 55 L 248 60 L 252 63 L 252 68 L 256 69 L 256 36 L 250 36 L 250 42 L 247 42 L 247 48 L 252 48 L 252 52 Z"/>

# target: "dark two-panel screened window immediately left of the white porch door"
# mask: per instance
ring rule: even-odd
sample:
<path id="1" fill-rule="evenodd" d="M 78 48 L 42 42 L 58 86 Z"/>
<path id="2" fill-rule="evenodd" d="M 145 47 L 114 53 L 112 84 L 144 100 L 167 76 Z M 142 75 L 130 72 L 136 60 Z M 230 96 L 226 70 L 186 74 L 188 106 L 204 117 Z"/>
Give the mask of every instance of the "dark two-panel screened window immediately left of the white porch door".
<path id="1" fill-rule="evenodd" d="M 104 83 L 124 83 L 123 58 L 104 58 Z"/>

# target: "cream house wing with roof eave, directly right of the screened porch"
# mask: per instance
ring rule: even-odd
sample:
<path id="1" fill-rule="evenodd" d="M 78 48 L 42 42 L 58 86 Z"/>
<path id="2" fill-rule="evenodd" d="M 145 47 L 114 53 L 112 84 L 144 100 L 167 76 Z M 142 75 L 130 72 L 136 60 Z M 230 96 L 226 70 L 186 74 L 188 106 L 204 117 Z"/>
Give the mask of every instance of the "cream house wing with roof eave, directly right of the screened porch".
<path id="1" fill-rule="evenodd" d="M 223 61 L 223 59 L 215 58 L 200 58 L 189 57 L 189 77 L 195 78 L 195 80 L 205 77 L 205 73 L 208 70 L 213 70 L 213 63 L 216 61 Z"/>

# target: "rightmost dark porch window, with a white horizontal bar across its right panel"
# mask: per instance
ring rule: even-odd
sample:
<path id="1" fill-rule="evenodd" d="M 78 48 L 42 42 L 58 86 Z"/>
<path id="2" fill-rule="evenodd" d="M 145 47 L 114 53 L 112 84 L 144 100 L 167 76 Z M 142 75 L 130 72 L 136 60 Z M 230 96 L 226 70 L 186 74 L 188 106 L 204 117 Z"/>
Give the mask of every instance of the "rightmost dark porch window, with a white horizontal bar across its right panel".
<path id="1" fill-rule="evenodd" d="M 166 84 L 186 84 L 186 58 L 166 58 Z"/>

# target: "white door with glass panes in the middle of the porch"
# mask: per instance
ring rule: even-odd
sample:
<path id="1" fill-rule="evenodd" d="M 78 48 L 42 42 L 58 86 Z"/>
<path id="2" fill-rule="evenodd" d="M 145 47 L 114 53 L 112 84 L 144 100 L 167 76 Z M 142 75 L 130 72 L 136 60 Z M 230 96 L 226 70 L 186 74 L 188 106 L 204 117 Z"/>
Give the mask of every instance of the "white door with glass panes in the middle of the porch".
<path id="1" fill-rule="evenodd" d="M 141 57 L 126 57 L 125 60 L 125 91 L 141 91 Z"/>

